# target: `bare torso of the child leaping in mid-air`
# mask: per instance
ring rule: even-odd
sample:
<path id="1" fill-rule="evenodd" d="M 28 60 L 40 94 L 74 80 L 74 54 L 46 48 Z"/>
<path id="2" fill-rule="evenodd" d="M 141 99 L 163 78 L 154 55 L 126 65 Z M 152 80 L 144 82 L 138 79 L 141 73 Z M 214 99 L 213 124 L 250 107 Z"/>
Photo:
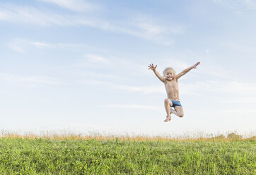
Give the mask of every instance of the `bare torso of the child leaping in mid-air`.
<path id="1" fill-rule="evenodd" d="M 168 96 L 168 99 L 179 99 L 179 87 L 178 80 L 173 78 L 172 80 L 165 80 L 165 90 Z"/>

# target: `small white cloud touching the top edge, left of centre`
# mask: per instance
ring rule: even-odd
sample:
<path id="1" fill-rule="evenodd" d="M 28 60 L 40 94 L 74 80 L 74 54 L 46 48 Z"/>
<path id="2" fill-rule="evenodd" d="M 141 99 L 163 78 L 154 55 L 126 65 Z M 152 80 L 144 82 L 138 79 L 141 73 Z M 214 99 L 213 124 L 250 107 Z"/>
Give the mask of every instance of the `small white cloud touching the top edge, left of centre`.
<path id="1" fill-rule="evenodd" d="M 62 8 L 67 8 L 69 10 L 79 11 L 79 12 L 95 11 L 96 9 L 100 8 L 100 6 L 96 4 L 93 4 L 88 1 L 83 1 L 83 0 L 39 0 L 39 1 L 45 1 L 52 4 L 57 4 Z"/>

